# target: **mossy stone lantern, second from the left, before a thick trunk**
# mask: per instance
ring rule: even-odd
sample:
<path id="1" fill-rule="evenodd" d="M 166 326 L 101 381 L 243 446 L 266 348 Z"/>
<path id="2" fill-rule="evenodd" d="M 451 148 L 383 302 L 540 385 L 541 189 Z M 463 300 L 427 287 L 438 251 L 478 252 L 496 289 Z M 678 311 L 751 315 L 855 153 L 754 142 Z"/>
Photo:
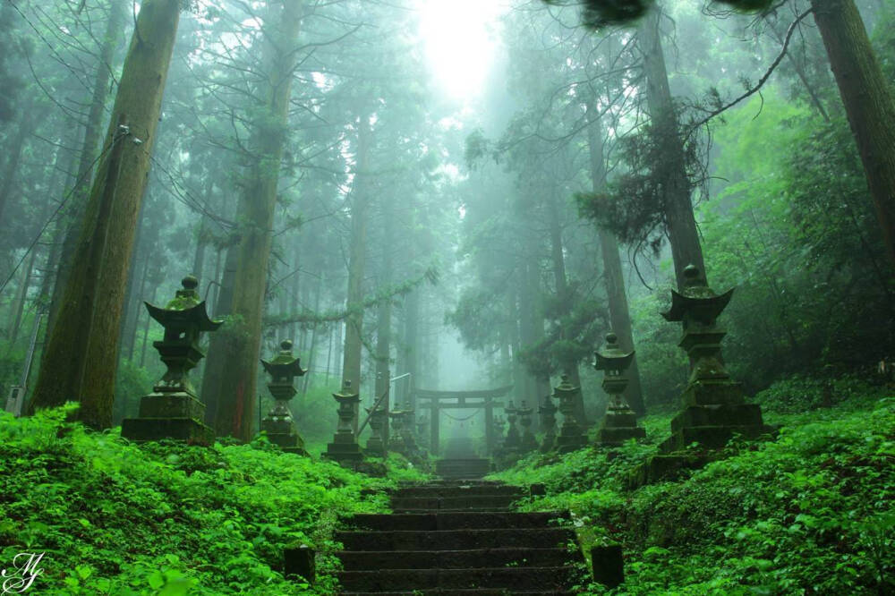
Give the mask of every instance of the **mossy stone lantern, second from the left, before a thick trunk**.
<path id="1" fill-rule="evenodd" d="M 268 440 L 278 445 L 286 453 L 307 456 L 304 440 L 295 431 L 292 413 L 289 412 L 289 400 L 297 391 L 293 386 L 295 377 L 302 377 L 304 370 L 299 359 L 292 353 L 292 342 L 286 339 L 280 343 L 280 352 L 272 361 L 261 360 L 264 370 L 270 375 L 268 390 L 276 400 L 274 409 L 261 421 L 261 430 L 268 435 Z"/>

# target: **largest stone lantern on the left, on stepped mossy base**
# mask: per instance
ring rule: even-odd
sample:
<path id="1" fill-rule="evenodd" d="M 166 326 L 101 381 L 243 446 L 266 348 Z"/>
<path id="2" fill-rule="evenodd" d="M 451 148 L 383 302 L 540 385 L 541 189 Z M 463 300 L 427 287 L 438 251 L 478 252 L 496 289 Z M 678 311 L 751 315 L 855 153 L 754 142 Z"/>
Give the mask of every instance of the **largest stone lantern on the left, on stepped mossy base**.
<path id="1" fill-rule="evenodd" d="M 152 393 L 141 397 L 139 417 L 122 422 L 122 437 L 132 441 L 173 438 L 208 445 L 214 440 L 214 432 L 203 423 L 205 404 L 196 396 L 189 373 L 205 357 L 199 347 L 201 334 L 215 331 L 222 321 L 209 319 L 195 277 L 183 277 L 181 284 L 183 289 L 165 308 L 145 302 L 149 316 L 165 328 L 165 336 L 152 346 L 167 370 Z"/>

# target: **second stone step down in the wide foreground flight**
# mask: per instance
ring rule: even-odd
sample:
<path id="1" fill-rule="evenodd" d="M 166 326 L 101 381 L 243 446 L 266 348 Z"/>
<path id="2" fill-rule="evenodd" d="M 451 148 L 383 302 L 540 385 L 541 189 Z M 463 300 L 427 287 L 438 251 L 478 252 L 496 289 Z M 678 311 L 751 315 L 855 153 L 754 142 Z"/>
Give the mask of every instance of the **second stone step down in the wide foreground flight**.
<path id="1" fill-rule="evenodd" d="M 510 544 L 523 549 L 554 549 L 575 541 L 575 532 L 561 528 L 336 532 L 336 541 L 345 550 L 499 549 Z"/>

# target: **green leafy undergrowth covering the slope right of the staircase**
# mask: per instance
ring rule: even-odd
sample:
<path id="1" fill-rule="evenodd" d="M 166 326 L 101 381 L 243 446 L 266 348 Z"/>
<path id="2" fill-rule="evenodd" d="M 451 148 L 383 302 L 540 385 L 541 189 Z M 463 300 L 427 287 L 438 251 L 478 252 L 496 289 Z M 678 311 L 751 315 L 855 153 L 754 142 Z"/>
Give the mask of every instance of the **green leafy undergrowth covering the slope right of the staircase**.
<path id="1" fill-rule="evenodd" d="M 845 379 L 832 383 L 831 407 L 799 411 L 820 397 L 793 392 L 815 385 L 827 382 L 756 396 L 779 438 L 734 439 L 723 459 L 678 481 L 626 490 L 626 474 L 655 453 L 634 442 L 533 456 L 490 478 L 543 483 L 547 495 L 522 508 L 569 510 L 585 551 L 622 545 L 626 583 L 581 593 L 895 593 L 895 396 Z M 646 426 L 660 440 L 668 417 Z"/>

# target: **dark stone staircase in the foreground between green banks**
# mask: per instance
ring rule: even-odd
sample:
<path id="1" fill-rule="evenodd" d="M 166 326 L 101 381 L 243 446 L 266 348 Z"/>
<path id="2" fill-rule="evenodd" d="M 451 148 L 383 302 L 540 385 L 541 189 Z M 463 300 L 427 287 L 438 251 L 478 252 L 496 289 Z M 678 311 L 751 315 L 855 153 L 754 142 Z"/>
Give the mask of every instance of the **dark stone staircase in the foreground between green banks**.
<path id="1" fill-rule="evenodd" d="M 484 481 L 440 481 L 392 496 L 391 515 L 355 515 L 337 532 L 345 596 L 572 595 L 575 532 L 551 521 L 562 513 L 516 513 L 527 496 Z"/>

